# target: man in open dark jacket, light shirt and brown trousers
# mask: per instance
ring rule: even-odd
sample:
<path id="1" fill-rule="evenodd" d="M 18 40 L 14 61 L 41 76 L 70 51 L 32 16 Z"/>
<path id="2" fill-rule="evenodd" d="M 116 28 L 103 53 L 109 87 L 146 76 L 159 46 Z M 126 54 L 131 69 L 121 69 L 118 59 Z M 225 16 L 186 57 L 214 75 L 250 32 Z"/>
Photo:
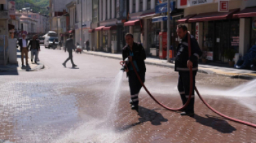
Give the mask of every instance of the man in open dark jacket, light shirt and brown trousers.
<path id="1" fill-rule="evenodd" d="M 21 50 L 22 67 L 24 67 L 24 54 L 26 58 L 26 66 L 28 66 L 28 40 L 26 39 L 26 34 L 22 34 L 22 38 L 19 39 L 19 47 Z"/>

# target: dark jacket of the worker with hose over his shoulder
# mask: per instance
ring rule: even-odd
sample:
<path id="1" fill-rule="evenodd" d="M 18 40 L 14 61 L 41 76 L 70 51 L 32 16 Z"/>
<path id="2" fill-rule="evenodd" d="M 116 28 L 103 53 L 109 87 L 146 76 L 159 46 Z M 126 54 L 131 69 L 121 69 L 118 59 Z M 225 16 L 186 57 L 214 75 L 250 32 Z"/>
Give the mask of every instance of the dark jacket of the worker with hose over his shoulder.
<path id="1" fill-rule="evenodd" d="M 202 56 L 203 52 L 201 51 L 199 44 L 197 43 L 194 36 L 190 36 L 191 43 L 191 56 L 188 53 L 188 34 L 184 39 L 181 40 L 177 49 L 176 61 L 175 61 L 175 71 L 190 71 L 187 66 L 188 60 L 193 63 L 193 71 L 198 70 L 198 60 Z"/>

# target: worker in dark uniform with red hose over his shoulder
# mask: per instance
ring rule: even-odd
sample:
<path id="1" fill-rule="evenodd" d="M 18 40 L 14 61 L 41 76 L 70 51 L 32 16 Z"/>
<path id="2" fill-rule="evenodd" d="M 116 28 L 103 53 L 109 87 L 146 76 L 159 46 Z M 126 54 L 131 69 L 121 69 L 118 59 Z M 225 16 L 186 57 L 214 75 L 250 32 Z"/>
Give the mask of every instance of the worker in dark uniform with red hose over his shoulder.
<path id="1" fill-rule="evenodd" d="M 179 72 L 179 83 L 178 90 L 181 94 L 181 100 L 185 104 L 190 95 L 190 68 L 193 72 L 193 87 L 192 96 L 190 104 L 185 108 L 185 111 L 181 115 L 194 115 L 194 88 L 195 88 L 195 78 L 196 72 L 198 70 L 198 60 L 202 56 L 203 52 L 199 47 L 194 36 L 190 35 L 191 44 L 191 56 L 189 56 L 188 50 L 188 28 L 185 25 L 177 26 L 177 34 L 181 39 L 177 49 L 176 61 L 175 61 L 175 71 Z"/>

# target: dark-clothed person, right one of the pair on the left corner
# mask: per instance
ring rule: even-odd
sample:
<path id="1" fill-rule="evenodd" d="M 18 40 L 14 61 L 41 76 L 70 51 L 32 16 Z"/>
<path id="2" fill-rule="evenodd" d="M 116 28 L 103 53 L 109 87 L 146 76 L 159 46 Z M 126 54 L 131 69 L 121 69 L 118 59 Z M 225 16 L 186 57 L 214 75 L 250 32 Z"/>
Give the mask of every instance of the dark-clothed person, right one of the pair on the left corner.
<path id="1" fill-rule="evenodd" d="M 31 51 L 31 63 L 33 62 L 33 56 L 35 54 L 35 63 L 37 64 L 37 56 L 38 52 L 40 51 L 40 45 L 39 42 L 37 41 L 37 36 L 33 36 L 33 39 L 30 40 L 28 47 L 30 47 Z"/>

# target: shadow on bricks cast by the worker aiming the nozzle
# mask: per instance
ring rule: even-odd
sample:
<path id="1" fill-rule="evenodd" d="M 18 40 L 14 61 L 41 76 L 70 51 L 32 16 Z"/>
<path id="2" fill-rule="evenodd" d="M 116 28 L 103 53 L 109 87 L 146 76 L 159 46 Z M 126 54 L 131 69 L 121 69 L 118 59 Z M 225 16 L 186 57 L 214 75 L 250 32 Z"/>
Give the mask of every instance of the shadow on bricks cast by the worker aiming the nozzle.
<path id="1" fill-rule="evenodd" d="M 159 126 L 161 125 L 161 122 L 168 121 L 161 113 L 154 111 L 154 109 L 151 110 L 145 107 L 138 107 L 138 115 L 140 116 L 140 118 L 138 118 L 138 122 L 122 127 L 122 130 L 130 129 L 133 126 L 143 124 L 144 122 L 151 122 L 152 125 Z"/>

